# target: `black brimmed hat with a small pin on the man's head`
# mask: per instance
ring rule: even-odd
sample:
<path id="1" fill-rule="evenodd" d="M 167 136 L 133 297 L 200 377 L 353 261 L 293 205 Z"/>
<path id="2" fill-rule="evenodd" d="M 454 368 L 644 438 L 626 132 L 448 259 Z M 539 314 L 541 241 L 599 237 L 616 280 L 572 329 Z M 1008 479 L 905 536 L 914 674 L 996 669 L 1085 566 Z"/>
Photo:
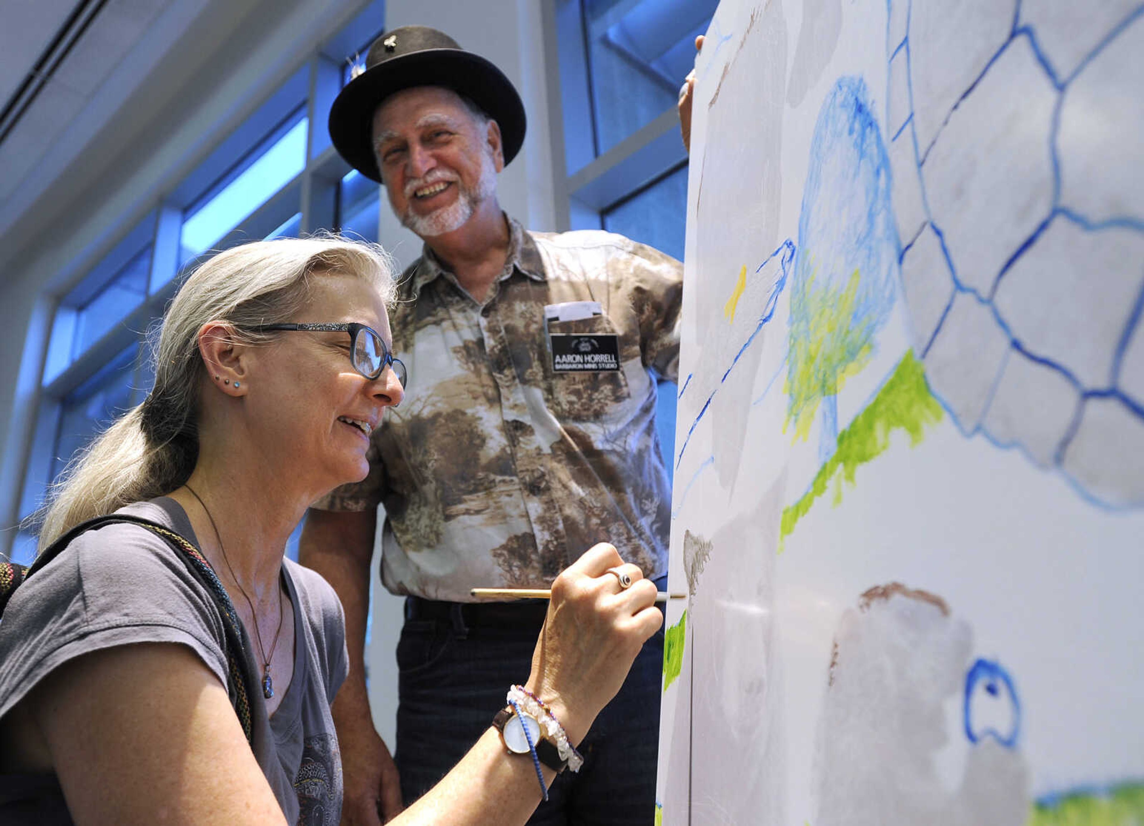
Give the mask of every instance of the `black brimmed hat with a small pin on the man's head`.
<path id="1" fill-rule="evenodd" d="M 524 143 L 524 103 L 505 73 L 429 26 L 402 26 L 370 47 L 362 74 L 329 108 L 329 137 L 359 173 L 381 183 L 373 151 L 373 116 L 387 97 L 414 86 L 444 86 L 480 106 L 501 130 L 505 164 Z"/>

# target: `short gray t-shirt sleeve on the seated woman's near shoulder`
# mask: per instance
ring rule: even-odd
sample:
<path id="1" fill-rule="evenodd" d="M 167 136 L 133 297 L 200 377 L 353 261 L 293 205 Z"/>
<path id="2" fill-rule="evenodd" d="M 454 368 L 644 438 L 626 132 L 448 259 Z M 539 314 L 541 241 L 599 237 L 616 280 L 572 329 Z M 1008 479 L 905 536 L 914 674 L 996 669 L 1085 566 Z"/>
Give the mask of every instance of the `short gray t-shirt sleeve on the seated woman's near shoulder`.
<path id="1" fill-rule="evenodd" d="M 5 610 L 0 716 L 56 668 L 117 645 L 186 645 L 225 685 L 224 641 L 214 599 L 166 542 L 137 525 L 88 531 Z"/>

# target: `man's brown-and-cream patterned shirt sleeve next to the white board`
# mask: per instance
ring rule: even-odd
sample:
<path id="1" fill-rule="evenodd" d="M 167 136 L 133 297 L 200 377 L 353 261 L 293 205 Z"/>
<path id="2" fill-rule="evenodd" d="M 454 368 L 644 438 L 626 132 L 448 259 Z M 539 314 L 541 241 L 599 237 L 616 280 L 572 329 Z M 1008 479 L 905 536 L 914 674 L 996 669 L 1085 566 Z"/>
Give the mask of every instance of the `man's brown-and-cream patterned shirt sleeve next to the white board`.
<path id="1" fill-rule="evenodd" d="M 683 305 L 683 264 L 670 255 L 630 241 L 619 262 L 618 283 L 639 324 L 643 364 L 668 381 L 680 373 L 680 310 Z"/>

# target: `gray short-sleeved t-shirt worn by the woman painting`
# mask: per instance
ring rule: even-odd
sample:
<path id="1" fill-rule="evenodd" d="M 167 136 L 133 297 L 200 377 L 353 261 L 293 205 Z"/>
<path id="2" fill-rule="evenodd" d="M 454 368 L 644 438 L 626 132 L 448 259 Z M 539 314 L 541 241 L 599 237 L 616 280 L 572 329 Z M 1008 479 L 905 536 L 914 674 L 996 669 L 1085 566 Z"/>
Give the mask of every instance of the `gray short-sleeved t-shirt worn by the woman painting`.
<path id="1" fill-rule="evenodd" d="M 121 513 L 198 543 L 173 499 L 138 502 Z M 294 675 L 273 718 L 267 717 L 261 697 L 251 698 L 254 756 L 288 823 L 336 826 L 342 765 L 329 706 L 349 669 L 344 615 L 333 588 L 313 571 L 285 559 L 283 579 L 294 606 Z M 0 717 L 64 662 L 130 643 L 186 645 L 225 685 L 224 641 L 223 618 L 210 594 L 164 540 L 129 524 L 88 531 L 21 585 L 5 609 Z M 243 642 L 249 684 L 260 685 L 262 672 L 245 633 Z M 58 794 L 54 778 L 23 776 L 22 781 Z M 50 816 L 35 821 L 56 823 Z"/>

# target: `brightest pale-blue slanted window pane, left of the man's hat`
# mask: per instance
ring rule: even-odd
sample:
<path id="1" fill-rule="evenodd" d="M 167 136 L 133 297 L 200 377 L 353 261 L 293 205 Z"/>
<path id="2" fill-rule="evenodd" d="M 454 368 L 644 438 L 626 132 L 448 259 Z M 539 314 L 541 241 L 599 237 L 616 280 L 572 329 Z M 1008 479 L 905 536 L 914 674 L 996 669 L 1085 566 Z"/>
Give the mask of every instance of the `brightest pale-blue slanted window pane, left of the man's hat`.
<path id="1" fill-rule="evenodd" d="M 206 252 L 305 167 L 309 121 L 302 118 L 214 198 L 199 206 L 180 235 L 181 261 Z"/>

